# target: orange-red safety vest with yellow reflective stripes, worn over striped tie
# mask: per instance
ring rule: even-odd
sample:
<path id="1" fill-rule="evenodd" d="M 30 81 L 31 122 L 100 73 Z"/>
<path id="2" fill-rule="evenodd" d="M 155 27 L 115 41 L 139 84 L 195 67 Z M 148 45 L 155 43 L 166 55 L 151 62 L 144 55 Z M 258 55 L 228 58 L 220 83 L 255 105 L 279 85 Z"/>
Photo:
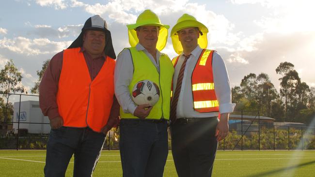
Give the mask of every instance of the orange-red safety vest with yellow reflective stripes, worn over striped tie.
<path id="1" fill-rule="evenodd" d="M 191 76 L 193 108 L 200 113 L 219 112 L 219 102 L 213 81 L 213 52 L 214 50 L 203 49 Z M 179 56 L 172 59 L 174 67 L 178 59 Z"/>

